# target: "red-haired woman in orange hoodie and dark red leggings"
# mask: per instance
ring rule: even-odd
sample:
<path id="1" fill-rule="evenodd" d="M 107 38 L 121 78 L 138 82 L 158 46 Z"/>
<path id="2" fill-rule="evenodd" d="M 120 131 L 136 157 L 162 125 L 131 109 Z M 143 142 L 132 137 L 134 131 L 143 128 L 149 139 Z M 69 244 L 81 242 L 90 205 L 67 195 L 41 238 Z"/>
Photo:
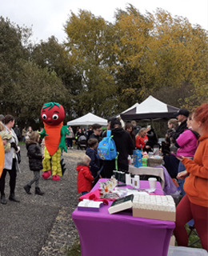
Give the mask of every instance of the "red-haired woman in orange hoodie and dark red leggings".
<path id="1" fill-rule="evenodd" d="M 178 157 L 186 170 L 177 178 L 186 178 L 184 190 L 186 195 L 176 208 L 174 235 L 178 246 L 188 246 L 185 224 L 194 218 L 194 227 L 208 251 L 208 104 L 202 104 L 193 114 L 192 129 L 200 134 L 194 160 L 184 156 Z"/>

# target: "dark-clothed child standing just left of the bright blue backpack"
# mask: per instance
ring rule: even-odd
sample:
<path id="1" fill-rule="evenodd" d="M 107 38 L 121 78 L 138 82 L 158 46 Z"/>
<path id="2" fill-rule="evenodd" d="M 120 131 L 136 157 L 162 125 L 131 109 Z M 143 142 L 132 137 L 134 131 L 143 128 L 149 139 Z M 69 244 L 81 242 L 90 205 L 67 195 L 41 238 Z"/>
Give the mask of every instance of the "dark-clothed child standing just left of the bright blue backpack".
<path id="1" fill-rule="evenodd" d="M 98 140 L 96 138 L 90 138 L 88 143 L 88 148 L 86 149 L 86 155 L 91 158 L 90 171 L 94 178 L 97 177 L 98 170 L 100 169 L 100 163 L 95 150 L 98 147 Z"/>

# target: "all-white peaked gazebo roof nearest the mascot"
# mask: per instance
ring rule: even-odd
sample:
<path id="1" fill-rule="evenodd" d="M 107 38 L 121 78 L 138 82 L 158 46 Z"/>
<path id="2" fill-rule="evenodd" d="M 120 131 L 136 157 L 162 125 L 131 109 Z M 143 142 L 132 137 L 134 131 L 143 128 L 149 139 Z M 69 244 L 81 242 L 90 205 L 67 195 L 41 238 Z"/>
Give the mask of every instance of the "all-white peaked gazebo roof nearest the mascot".
<path id="1" fill-rule="evenodd" d="M 101 126 L 107 126 L 107 120 L 99 118 L 95 114 L 85 114 L 81 118 L 74 119 L 67 122 L 67 126 L 92 126 L 94 123 L 98 123 Z"/>

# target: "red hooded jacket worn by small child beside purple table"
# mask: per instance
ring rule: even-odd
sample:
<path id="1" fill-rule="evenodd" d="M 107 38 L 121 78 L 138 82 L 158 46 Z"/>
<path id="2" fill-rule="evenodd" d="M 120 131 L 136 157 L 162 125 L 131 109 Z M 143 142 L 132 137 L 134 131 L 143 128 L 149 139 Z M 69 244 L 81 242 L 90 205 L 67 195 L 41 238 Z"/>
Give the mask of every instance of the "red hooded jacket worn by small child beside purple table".
<path id="1" fill-rule="evenodd" d="M 90 191 L 94 178 L 89 166 L 83 166 L 82 163 L 78 163 L 76 170 L 78 170 L 78 193 Z"/>

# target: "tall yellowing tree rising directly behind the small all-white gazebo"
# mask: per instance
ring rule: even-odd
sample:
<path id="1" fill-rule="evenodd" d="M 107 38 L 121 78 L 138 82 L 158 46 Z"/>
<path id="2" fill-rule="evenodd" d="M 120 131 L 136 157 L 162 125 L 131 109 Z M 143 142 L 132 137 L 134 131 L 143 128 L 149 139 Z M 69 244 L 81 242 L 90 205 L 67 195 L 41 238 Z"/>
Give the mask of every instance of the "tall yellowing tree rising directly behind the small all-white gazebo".
<path id="1" fill-rule="evenodd" d="M 116 85 L 110 72 L 112 26 L 89 11 L 79 10 L 78 16 L 71 12 L 65 31 L 70 61 L 82 76 L 82 90 L 74 97 L 76 112 L 109 116 L 116 102 Z"/>

